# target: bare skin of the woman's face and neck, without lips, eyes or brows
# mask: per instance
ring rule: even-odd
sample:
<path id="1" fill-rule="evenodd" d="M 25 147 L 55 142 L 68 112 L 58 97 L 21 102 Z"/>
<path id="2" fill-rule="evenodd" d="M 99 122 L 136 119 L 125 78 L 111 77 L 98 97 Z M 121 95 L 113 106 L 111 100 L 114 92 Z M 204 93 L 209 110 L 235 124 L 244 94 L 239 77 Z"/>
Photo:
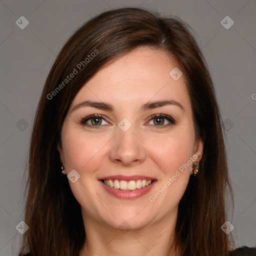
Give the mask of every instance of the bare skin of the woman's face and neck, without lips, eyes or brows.
<path id="1" fill-rule="evenodd" d="M 168 248 L 173 240 L 178 202 L 192 166 L 180 172 L 154 202 L 148 199 L 179 166 L 202 152 L 202 142 L 195 138 L 183 77 L 175 81 L 169 75 L 176 66 L 164 52 L 138 47 L 100 69 L 76 94 L 63 123 L 58 151 L 66 173 L 75 169 L 80 175 L 74 183 L 68 180 L 81 205 L 86 233 L 80 256 L 178 255 L 168 253 Z M 88 106 L 72 111 L 88 99 L 110 103 L 114 111 Z M 140 111 L 140 106 L 150 100 L 175 100 L 183 109 L 165 105 Z M 150 117 L 160 113 L 171 116 L 175 123 L 167 126 L 170 122 L 162 119 L 165 126 L 157 128 L 157 118 Z M 99 128 L 95 128 L 95 119 L 87 121 L 90 126 L 81 123 L 90 114 L 100 114 L 105 119 L 100 119 Z M 123 118 L 131 123 L 125 132 L 118 127 Z M 201 155 L 196 160 L 200 158 Z M 118 174 L 152 176 L 157 183 L 141 197 L 120 199 L 106 192 L 98 181 L 102 176 Z M 130 228 L 125 233 L 118 228 L 123 221 Z"/>

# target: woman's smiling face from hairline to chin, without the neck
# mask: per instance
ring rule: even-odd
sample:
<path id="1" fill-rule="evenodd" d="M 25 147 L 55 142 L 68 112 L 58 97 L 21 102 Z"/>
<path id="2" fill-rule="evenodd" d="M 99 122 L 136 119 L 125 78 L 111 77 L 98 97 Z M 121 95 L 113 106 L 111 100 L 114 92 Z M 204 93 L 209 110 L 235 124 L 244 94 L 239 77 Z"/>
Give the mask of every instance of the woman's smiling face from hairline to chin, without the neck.
<path id="1" fill-rule="evenodd" d="M 177 213 L 202 152 L 183 76 L 170 73 L 177 66 L 164 52 L 139 47 L 76 94 L 58 150 L 83 218 L 140 228 Z"/>

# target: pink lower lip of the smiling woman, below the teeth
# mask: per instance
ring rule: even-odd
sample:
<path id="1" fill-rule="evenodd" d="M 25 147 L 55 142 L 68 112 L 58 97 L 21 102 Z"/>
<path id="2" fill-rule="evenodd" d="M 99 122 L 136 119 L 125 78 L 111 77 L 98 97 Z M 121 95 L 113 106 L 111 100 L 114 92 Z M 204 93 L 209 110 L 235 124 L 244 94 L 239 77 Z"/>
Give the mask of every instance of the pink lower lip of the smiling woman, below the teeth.
<path id="1" fill-rule="evenodd" d="M 117 198 L 135 199 L 135 198 L 138 198 L 138 197 L 148 193 L 152 189 L 154 184 L 156 183 L 156 180 L 154 179 L 150 185 L 147 185 L 147 186 L 135 189 L 135 190 L 116 189 L 116 188 L 113 188 L 113 187 L 110 187 L 110 186 L 104 184 L 101 180 L 99 180 L 99 182 L 108 193 L 114 195 Z"/>

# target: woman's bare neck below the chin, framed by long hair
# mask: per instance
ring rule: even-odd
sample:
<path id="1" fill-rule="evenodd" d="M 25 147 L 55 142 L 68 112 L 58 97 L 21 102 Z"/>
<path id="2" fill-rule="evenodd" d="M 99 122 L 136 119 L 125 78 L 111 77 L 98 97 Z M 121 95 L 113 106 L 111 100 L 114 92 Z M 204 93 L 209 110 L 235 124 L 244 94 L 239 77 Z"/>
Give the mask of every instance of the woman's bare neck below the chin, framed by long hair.
<path id="1" fill-rule="evenodd" d="M 177 209 L 139 229 L 119 230 L 83 215 L 85 242 L 79 256 L 177 256 L 172 248 Z"/>

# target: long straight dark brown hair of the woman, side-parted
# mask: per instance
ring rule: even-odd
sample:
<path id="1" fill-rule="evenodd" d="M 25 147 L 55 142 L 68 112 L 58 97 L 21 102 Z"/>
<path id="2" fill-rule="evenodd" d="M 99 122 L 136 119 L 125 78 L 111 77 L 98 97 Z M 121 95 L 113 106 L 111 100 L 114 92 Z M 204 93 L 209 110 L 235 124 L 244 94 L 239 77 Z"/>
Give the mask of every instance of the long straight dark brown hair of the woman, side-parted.
<path id="1" fill-rule="evenodd" d="M 182 256 L 228 255 L 228 236 L 220 226 L 226 221 L 227 193 L 232 203 L 233 197 L 222 121 L 207 65 L 185 22 L 135 7 L 106 11 L 87 21 L 52 65 L 31 135 L 25 207 L 29 229 L 20 253 L 27 249 L 31 256 L 79 254 L 86 234 L 80 205 L 60 170 L 61 126 L 78 90 L 104 65 L 141 45 L 160 49 L 179 63 L 195 132 L 204 145 L 199 173 L 190 175 L 178 205 L 174 244 Z M 77 73 L 67 79 L 74 69 Z"/>

